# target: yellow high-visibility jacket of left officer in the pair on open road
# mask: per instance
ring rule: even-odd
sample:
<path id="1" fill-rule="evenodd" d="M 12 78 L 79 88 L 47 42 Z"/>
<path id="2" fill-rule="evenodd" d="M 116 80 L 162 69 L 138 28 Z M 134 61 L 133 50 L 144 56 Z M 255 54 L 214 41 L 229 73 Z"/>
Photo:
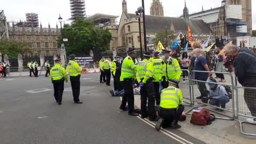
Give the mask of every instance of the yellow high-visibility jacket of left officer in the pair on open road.
<path id="1" fill-rule="evenodd" d="M 50 77 L 53 81 L 60 80 L 62 78 L 65 78 L 65 80 L 68 80 L 68 75 L 65 70 L 59 63 L 56 63 L 54 67 L 50 70 Z"/>

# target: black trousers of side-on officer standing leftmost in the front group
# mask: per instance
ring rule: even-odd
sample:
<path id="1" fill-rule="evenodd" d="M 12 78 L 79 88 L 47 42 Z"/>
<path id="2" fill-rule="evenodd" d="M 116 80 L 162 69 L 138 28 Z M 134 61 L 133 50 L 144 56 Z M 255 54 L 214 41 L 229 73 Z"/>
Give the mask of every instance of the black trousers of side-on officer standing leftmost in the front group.
<path id="1" fill-rule="evenodd" d="M 120 108 L 124 109 L 126 103 L 128 103 L 129 113 L 132 113 L 134 110 L 134 93 L 133 93 L 133 79 L 126 79 L 121 82 L 124 87 L 124 96 Z"/>

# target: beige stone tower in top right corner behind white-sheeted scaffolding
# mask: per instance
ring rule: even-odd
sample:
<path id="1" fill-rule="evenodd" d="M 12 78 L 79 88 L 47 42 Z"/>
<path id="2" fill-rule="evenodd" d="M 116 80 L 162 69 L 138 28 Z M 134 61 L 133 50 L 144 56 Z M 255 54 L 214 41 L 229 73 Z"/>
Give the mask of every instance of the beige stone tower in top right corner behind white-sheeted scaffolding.
<path id="1" fill-rule="evenodd" d="M 242 22 L 247 24 L 247 33 L 252 35 L 252 0 L 227 0 L 227 5 L 242 5 Z"/>

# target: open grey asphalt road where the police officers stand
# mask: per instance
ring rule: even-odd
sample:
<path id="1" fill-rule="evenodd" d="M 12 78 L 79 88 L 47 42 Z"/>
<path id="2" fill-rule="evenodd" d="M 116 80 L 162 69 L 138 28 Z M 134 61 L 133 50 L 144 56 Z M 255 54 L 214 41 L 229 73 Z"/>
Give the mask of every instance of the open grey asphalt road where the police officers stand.
<path id="1" fill-rule="evenodd" d="M 50 78 L 0 79 L 0 143 L 203 143 L 179 130 L 173 131 L 179 137 L 157 132 L 119 111 L 120 98 L 109 94 L 113 86 L 98 77 L 82 75 L 82 105 L 73 103 L 70 82 L 65 83 L 61 106 Z"/>

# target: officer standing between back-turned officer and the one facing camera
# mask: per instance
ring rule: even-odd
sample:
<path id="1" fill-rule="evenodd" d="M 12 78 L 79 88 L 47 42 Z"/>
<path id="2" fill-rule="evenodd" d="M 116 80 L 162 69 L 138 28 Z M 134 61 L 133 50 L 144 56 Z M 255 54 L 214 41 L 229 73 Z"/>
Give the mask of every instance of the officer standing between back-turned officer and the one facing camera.
<path id="1" fill-rule="evenodd" d="M 155 89 L 155 99 L 156 99 L 156 105 L 160 105 L 160 93 L 159 93 L 159 87 L 162 84 L 162 77 L 163 77 L 163 64 L 162 64 L 162 59 L 161 53 L 160 52 L 155 52 L 155 59 L 152 60 L 153 62 L 153 67 L 154 67 L 154 89 Z"/>

